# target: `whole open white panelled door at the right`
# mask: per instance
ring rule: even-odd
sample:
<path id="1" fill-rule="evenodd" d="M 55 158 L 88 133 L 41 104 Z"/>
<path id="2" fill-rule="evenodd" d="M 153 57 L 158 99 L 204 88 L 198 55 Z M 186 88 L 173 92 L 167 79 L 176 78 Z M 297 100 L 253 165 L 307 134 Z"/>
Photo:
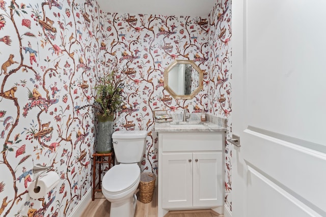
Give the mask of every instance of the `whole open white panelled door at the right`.
<path id="1" fill-rule="evenodd" d="M 326 1 L 232 1 L 232 216 L 326 216 Z"/>

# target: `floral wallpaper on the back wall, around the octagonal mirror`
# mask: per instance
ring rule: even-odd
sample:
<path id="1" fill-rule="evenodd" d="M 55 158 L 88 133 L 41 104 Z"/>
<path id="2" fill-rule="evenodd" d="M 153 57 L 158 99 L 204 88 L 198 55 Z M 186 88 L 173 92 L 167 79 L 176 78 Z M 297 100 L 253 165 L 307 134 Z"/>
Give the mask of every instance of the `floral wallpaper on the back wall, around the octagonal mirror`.
<path id="1" fill-rule="evenodd" d="M 151 134 L 153 111 L 181 113 L 186 107 L 191 112 L 206 112 L 208 99 L 204 89 L 192 100 L 174 100 L 164 89 L 164 71 L 174 59 L 192 59 L 207 70 L 209 25 L 198 24 L 204 18 L 188 16 L 108 13 L 104 19 L 103 62 L 118 61 L 127 69 L 119 75 L 125 77 L 125 103 L 115 128 L 148 131 L 142 170 L 157 174 L 157 141 Z"/>

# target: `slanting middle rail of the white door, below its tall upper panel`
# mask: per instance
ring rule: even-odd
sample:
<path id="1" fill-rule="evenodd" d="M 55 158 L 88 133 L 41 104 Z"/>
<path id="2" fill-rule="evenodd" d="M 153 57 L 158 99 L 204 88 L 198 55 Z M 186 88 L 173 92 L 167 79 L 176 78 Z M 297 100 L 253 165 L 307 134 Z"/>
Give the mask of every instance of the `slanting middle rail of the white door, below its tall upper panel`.
<path id="1" fill-rule="evenodd" d="M 326 175 L 320 172 L 325 170 L 324 153 L 251 130 L 244 131 L 242 142 L 249 144 L 243 158 L 256 173 L 326 216 Z"/>

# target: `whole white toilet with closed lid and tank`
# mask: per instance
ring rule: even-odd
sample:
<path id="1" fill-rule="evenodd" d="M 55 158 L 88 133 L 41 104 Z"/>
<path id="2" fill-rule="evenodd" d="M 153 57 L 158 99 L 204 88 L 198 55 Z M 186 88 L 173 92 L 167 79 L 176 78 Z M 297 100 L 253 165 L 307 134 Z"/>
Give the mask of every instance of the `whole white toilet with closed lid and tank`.
<path id="1" fill-rule="evenodd" d="M 138 188 L 147 131 L 116 131 L 112 134 L 118 165 L 108 170 L 102 179 L 102 193 L 111 202 L 111 217 L 133 217 L 137 204 L 134 192 Z"/>

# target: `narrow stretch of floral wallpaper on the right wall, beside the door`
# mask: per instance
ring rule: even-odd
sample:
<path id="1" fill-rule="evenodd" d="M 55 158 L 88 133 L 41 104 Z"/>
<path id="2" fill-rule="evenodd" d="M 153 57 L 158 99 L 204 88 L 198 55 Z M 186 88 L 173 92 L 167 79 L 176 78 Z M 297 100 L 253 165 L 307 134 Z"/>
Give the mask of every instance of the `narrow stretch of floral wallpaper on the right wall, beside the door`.
<path id="1" fill-rule="evenodd" d="M 231 101 L 231 1 L 219 0 L 212 9 L 209 20 L 212 23 L 209 32 L 208 74 L 208 113 L 226 117 L 227 139 L 232 136 Z M 225 144 L 225 203 L 232 211 L 232 144 Z"/>

